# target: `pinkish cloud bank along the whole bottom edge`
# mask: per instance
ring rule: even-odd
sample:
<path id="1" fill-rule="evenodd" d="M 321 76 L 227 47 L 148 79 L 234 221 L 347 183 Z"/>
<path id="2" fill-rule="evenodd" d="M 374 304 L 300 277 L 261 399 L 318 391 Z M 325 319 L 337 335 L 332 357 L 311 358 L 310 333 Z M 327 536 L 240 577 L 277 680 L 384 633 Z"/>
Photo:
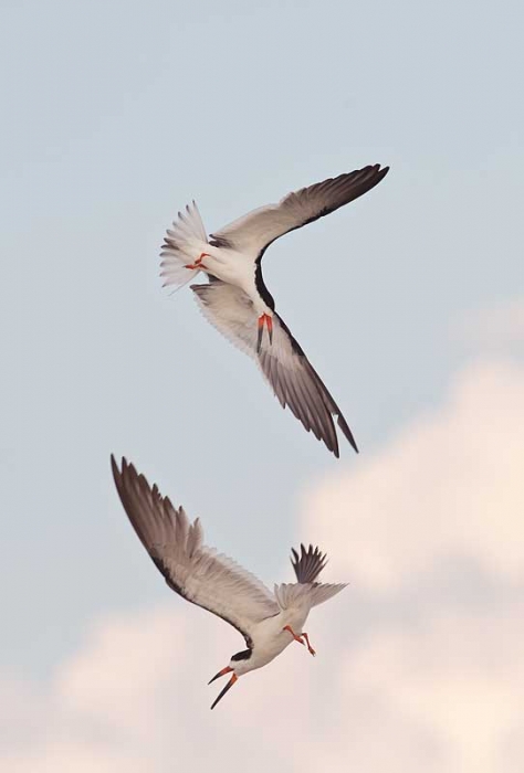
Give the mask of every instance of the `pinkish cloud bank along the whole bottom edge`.
<path id="1" fill-rule="evenodd" d="M 40 733 L 31 702 L 25 716 L 19 706 L 11 719 L 19 739 L 8 728 L 0 767 L 517 773 L 523 612 L 516 603 L 494 615 L 430 612 L 348 647 L 333 605 L 317 659 L 290 647 L 243 677 L 213 712 L 220 686 L 205 679 L 231 653 L 220 621 L 181 605 L 115 616 L 59 668 L 38 706 Z M 313 616 L 308 628 L 313 635 Z M 15 691 L 0 695 L 6 708 Z"/>

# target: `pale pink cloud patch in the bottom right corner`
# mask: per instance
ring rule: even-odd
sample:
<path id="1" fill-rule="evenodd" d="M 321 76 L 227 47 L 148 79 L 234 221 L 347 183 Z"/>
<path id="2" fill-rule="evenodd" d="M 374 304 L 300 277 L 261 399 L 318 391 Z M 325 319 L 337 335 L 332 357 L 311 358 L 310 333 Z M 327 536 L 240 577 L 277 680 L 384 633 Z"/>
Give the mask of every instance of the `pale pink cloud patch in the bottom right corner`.
<path id="1" fill-rule="evenodd" d="M 434 734 L 446 770 L 495 770 L 522 728 L 524 606 L 490 615 L 441 614 L 381 636 L 348 667 L 349 684 L 389 695 L 395 713 Z"/>

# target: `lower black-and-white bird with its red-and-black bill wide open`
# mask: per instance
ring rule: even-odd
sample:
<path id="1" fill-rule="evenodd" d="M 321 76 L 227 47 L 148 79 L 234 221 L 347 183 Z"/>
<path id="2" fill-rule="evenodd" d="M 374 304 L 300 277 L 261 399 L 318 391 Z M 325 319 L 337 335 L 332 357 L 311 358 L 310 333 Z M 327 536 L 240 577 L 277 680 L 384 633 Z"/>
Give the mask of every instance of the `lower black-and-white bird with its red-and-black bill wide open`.
<path id="1" fill-rule="evenodd" d="M 271 663 L 292 642 L 307 644 L 315 655 L 302 631 L 310 610 L 346 587 L 316 582 L 326 564 L 318 548 L 301 546 L 300 555 L 292 551 L 297 582 L 275 585 L 273 594 L 238 563 L 207 548 L 199 519 L 190 523 L 184 508 L 175 508 L 125 458 L 120 469 L 113 456 L 111 462 L 124 509 L 169 587 L 222 617 L 245 639 L 247 649 L 232 655 L 229 665 L 211 679 L 232 675 L 212 709 L 239 676 Z"/>

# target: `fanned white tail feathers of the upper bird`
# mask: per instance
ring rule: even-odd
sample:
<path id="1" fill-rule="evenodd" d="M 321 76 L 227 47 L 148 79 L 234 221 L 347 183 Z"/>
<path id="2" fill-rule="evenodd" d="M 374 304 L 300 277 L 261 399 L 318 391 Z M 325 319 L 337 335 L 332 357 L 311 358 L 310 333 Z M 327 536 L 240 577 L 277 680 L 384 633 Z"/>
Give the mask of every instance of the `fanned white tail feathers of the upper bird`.
<path id="1" fill-rule="evenodd" d="M 199 272 L 198 268 L 186 268 L 206 252 L 208 237 L 203 227 L 198 207 L 192 202 L 185 212 L 178 213 L 178 219 L 168 229 L 161 247 L 161 272 L 164 286 L 181 287 L 190 282 Z"/>

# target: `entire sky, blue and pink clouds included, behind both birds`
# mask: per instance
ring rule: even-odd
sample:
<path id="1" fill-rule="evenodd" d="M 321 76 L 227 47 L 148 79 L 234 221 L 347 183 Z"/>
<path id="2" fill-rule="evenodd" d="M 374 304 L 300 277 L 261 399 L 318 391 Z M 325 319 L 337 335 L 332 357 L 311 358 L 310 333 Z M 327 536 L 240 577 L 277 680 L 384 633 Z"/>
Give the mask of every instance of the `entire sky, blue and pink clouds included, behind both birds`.
<path id="1" fill-rule="evenodd" d="M 2 766 L 522 770 L 523 21 L 0 4 Z M 212 232 L 368 163 L 391 170 L 264 256 L 360 448 L 337 460 L 158 253 L 192 199 Z M 318 542 L 349 583 L 308 621 L 318 657 L 289 647 L 209 712 L 241 642 L 165 586 L 111 453 L 270 586 Z"/>

